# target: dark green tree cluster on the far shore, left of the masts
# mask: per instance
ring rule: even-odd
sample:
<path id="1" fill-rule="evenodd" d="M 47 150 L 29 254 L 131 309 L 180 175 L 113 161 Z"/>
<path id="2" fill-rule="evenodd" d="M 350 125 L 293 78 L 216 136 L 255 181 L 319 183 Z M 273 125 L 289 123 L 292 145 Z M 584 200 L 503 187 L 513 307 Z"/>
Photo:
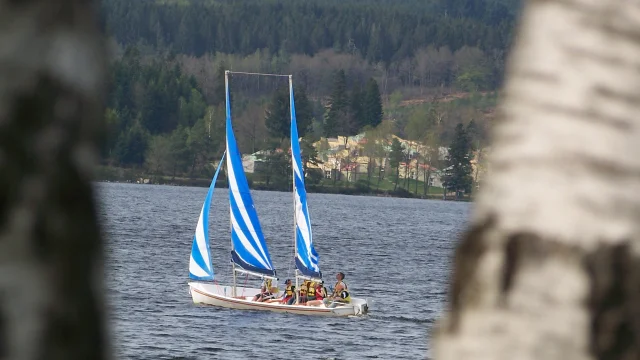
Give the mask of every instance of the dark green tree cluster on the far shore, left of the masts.
<path id="1" fill-rule="evenodd" d="M 149 157 L 155 172 L 183 170 L 171 158 L 185 154 L 187 129 L 198 125 L 194 134 L 205 133 L 207 104 L 195 78 L 169 58 L 143 65 L 138 49 L 128 47 L 111 65 L 111 82 L 103 157 L 123 166 L 142 166 Z M 202 161 L 201 149 L 192 150 Z"/>

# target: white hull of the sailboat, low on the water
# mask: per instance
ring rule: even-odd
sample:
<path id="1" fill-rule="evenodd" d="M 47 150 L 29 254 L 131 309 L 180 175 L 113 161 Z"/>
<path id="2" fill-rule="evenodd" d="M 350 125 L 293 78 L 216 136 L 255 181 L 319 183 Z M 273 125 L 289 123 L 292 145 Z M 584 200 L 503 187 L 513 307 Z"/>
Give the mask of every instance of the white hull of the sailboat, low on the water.
<path id="1" fill-rule="evenodd" d="M 356 316 L 368 312 L 369 306 L 365 299 L 351 298 L 351 303 L 334 308 L 304 305 L 285 305 L 280 303 L 265 303 L 251 301 L 260 289 L 236 287 L 237 297 L 232 296 L 233 287 L 225 285 L 189 283 L 189 293 L 196 304 L 206 304 L 238 310 L 264 310 L 280 313 L 319 316 Z"/>

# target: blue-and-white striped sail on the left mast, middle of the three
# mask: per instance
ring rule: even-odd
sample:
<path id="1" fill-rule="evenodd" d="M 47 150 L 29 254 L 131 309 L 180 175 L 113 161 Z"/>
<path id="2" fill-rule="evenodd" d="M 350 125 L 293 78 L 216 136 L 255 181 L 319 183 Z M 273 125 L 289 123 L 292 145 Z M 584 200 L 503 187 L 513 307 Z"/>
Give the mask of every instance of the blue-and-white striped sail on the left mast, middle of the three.
<path id="1" fill-rule="evenodd" d="M 242 167 L 242 156 L 238 150 L 231 127 L 229 84 L 226 84 L 227 104 L 227 173 L 229 178 L 229 205 L 231 219 L 231 260 L 241 268 L 275 276 L 267 243 L 262 234 L 258 214 L 251 199 L 249 184 Z"/>

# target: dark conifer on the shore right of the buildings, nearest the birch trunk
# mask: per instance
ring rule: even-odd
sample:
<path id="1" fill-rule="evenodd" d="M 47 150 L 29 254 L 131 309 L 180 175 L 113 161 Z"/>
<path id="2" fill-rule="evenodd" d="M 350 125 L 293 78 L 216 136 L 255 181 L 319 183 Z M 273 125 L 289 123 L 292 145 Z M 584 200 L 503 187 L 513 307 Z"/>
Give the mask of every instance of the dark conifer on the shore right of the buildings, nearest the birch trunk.
<path id="1" fill-rule="evenodd" d="M 454 139 L 449 146 L 447 156 L 446 174 L 443 185 L 446 190 L 454 191 L 456 198 L 460 192 L 471 192 L 473 179 L 471 177 L 471 140 L 462 124 L 458 124 L 455 129 Z"/>

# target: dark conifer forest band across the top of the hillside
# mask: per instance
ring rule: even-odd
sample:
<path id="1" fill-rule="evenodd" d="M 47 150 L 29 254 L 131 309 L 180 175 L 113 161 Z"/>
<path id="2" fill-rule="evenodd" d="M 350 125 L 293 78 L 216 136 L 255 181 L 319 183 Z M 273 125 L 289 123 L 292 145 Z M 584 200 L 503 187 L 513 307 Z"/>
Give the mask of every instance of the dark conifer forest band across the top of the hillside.
<path id="1" fill-rule="evenodd" d="M 105 0 L 102 13 L 108 32 L 125 45 L 195 56 L 268 48 L 284 59 L 333 47 L 388 65 L 427 45 L 506 49 L 515 7 L 496 0 Z"/>

